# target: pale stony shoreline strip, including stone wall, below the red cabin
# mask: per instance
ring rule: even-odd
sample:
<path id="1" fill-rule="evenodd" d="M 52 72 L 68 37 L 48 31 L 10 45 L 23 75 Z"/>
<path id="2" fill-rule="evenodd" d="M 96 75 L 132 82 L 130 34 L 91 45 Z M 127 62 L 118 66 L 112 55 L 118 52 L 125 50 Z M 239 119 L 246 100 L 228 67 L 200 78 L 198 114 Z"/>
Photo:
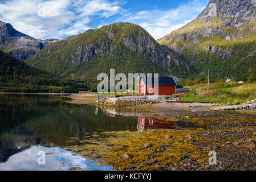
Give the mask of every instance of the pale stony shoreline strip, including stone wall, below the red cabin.
<path id="1" fill-rule="evenodd" d="M 197 111 L 201 112 L 202 110 L 210 110 L 216 107 L 214 103 L 200 103 L 200 102 L 182 102 L 179 101 L 178 97 L 138 97 L 139 99 L 134 103 L 135 96 L 125 96 L 125 97 L 113 97 L 103 100 L 100 94 L 72 94 L 67 96 L 71 98 L 71 104 L 91 104 L 98 105 L 103 107 L 105 110 L 109 109 L 124 109 L 124 110 L 133 110 L 133 111 L 150 111 L 155 115 L 187 115 L 193 114 Z M 98 102 L 96 97 L 101 99 Z M 143 99 L 143 101 L 140 101 Z M 108 100 L 108 101 L 107 101 Z M 118 100 L 117 104 L 115 104 Z M 122 101 L 121 101 L 122 100 Z M 126 101 L 127 100 L 127 101 Z"/>

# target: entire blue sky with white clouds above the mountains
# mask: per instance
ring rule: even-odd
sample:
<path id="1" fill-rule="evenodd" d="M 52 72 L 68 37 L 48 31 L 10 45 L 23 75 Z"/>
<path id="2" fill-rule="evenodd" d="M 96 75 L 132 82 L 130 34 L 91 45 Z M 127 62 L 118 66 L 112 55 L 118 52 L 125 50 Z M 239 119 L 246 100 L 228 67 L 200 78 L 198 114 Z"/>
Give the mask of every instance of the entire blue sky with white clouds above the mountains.
<path id="1" fill-rule="evenodd" d="M 0 20 L 36 39 L 77 35 L 117 22 L 135 23 L 155 39 L 195 19 L 209 0 L 0 0 Z"/>

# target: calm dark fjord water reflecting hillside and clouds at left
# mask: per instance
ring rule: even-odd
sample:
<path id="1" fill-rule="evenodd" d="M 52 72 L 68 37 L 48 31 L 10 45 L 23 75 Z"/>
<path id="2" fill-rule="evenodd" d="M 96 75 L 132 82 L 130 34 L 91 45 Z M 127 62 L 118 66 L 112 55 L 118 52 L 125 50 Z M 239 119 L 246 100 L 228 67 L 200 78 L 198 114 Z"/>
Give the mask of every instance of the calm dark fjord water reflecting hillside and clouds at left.
<path id="1" fill-rule="evenodd" d="M 0 94 L 0 170 L 109 170 L 62 147 L 71 137 L 101 131 L 137 130 L 136 117 L 108 117 L 91 105 L 64 97 Z M 38 152 L 46 152 L 46 165 Z"/>

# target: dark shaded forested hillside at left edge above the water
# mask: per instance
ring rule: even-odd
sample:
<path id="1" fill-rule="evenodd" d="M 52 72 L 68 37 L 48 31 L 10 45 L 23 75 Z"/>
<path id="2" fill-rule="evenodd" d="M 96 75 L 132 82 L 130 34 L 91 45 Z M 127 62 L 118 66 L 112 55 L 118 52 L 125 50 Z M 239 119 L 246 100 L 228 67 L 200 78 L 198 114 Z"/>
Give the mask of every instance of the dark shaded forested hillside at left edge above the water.
<path id="1" fill-rule="evenodd" d="M 0 51 L 0 92 L 78 92 L 86 84 L 60 80 Z"/>

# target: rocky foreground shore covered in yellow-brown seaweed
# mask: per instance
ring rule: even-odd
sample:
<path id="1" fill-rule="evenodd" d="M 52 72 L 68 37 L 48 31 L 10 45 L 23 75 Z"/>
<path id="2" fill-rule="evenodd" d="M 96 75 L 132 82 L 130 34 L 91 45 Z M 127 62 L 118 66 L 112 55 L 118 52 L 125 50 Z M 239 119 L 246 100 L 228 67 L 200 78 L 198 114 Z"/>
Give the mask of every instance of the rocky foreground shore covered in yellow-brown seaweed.
<path id="1" fill-rule="evenodd" d="M 66 149 L 116 170 L 256 170 L 256 115 L 232 112 L 186 117 L 208 129 L 113 131 L 90 139 L 74 138 L 70 142 L 76 144 Z M 216 165 L 209 164 L 210 151 L 217 154 Z"/>

